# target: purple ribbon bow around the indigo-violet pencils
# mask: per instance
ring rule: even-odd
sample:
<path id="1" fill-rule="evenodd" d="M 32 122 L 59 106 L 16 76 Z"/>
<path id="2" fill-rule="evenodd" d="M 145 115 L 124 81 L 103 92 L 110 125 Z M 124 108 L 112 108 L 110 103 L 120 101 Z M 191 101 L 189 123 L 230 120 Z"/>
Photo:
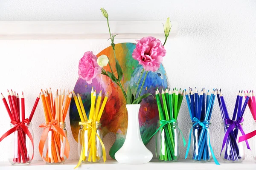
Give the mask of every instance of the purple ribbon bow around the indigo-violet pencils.
<path id="1" fill-rule="evenodd" d="M 242 126 L 240 125 L 241 122 L 244 122 L 244 119 L 241 117 L 240 119 L 238 119 L 237 121 L 231 120 L 231 119 L 225 119 L 225 124 L 229 125 L 229 127 L 227 128 L 227 131 L 225 133 L 223 142 L 222 142 L 222 148 L 221 148 L 221 152 L 224 149 L 225 143 L 227 142 L 227 137 L 229 136 L 230 132 L 233 131 L 233 129 L 235 127 L 238 127 L 240 132 L 242 133 L 242 135 L 245 135 L 244 130 L 242 128 Z M 250 149 L 249 143 L 247 140 L 245 140 L 247 149 Z"/>

